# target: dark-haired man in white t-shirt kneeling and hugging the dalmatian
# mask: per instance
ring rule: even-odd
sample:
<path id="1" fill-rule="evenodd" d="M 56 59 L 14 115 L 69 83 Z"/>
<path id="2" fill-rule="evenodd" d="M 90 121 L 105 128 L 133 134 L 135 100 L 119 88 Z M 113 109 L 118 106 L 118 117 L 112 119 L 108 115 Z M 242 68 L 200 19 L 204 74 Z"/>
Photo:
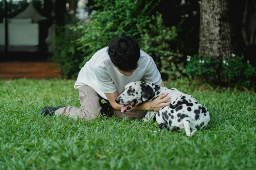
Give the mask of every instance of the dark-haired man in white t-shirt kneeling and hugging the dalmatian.
<path id="1" fill-rule="evenodd" d="M 170 105 L 170 97 L 162 94 L 153 101 L 135 106 L 129 112 L 121 112 L 123 105 L 115 98 L 124 92 L 124 87 L 132 81 L 144 80 L 164 86 L 161 74 L 152 57 L 140 50 L 135 38 L 125 34 L 114 38 L 108 45 L 97 51 L 81 68 L 75 89 L 78 89 L 80 108 L 74 106 L 44 107 L 39 114 L 66 115 L 74 119 L 96 119 L 104 113 L 119 118 L 142 119 L 145 111 L 159 111 Z M 165 98 L 166 97 L 166 98 Z M 105 99 L 107 103 L 102 104 Z M 166 103 L 165 103 L 166 102 Z M 111 105 L 111 106 L 110 106 Z"/>

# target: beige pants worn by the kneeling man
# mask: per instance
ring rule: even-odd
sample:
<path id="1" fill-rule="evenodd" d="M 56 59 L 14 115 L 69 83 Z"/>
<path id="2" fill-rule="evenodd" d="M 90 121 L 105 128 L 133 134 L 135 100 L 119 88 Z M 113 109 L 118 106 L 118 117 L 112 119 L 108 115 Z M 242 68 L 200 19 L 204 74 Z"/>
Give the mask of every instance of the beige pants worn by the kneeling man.
<path id="1" fill-rule="evenodd" d="M 120 110 L 114 109 L 108 103 L 102 104 L 103 99 L 93 88 L 83 85 L 78 88 L 80 98 L 80 108 L 67 106 L 56 110 L 55 115 L 67 115 L 74 119 L 81 118 L 84 120 L 97 119 L 102 113 L 108 113 L 118 118 L 137 118 L 142 119 L 145 115 L 144 111 L 131 111 L 122 113 Z M 107 101 L 109 102 L 109 101 Z"/>

